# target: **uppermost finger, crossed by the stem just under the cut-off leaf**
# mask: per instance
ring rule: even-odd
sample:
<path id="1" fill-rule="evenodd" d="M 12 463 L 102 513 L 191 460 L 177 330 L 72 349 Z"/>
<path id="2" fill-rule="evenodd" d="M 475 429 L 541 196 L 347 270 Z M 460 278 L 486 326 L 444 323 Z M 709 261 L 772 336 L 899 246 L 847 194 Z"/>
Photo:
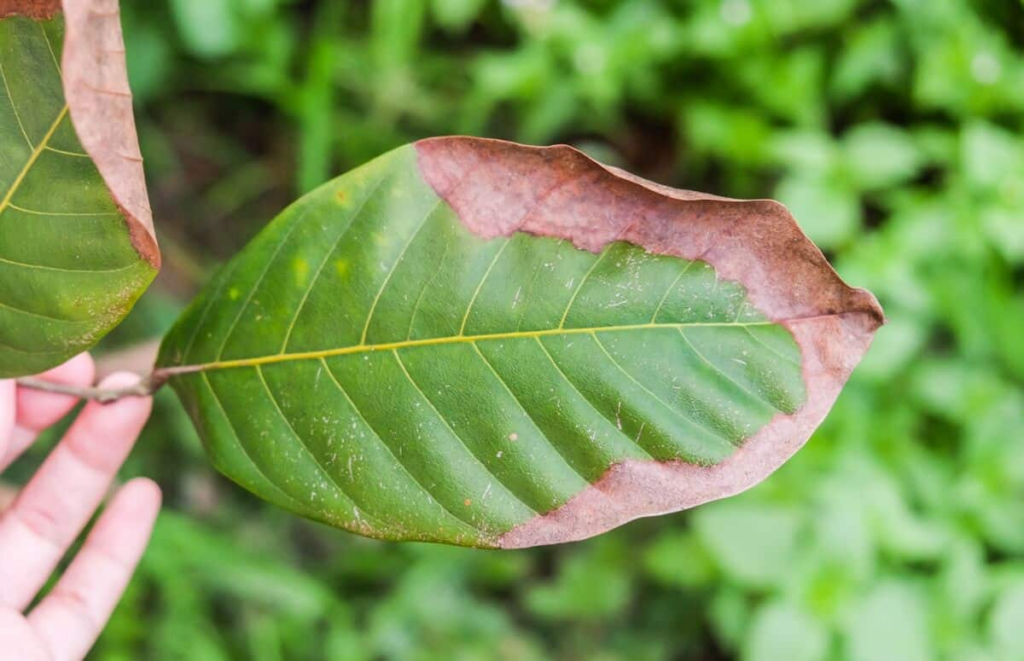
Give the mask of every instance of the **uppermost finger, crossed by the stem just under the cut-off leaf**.
<path id="1" fill-rule="evenodd" d="M 82 353 L 62 365 L 39 374 L 40 379 L 72 386 L 92 385 L 95 366 L 87 353 Z M 0 471 L 10 466 L 25 451 L 39 432 L 55 424 L 70 411 L 77 399 L 32 388 L 18 388 L 14 431 L 6 451 L 0 449 Z"/>

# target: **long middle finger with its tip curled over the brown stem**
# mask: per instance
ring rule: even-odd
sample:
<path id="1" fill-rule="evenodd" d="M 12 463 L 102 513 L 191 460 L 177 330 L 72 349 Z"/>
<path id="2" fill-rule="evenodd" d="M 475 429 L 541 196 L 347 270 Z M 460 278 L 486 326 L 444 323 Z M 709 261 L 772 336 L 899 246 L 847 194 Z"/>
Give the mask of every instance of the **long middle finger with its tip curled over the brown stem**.
<path id="1" fill-rule="evenodd" d="M 104 388 L 137 383 L 119 372 Z M 148 397 L 89 402 L 0 519 L 0 605 L 22 610 L 89 521 L 150 414 Z"/>

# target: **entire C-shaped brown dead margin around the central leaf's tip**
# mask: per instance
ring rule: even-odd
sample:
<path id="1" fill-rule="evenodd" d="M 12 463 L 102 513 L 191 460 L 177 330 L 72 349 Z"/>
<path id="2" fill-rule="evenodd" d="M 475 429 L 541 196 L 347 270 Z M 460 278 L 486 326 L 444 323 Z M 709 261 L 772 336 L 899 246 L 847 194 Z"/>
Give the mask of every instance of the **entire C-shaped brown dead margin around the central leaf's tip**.
<path id="1" fill-rule="evenodd" d="M 676 512 L 757 484 L 807 441 L 884 321 L 864 290 L 847 285 L 780 204 L 740 201 L 645 181 L 568 146 L 467 137 L 417 143 L 425 180 L 482 237 L 525 231 L 599 252 L 626 240 L 711 264 L 790 329 L 808 398 L 777 414 L 711 468 L 626 460 L 567 503 L 502 536 L 506 548 L 589 537 L 638 517 Z"/>

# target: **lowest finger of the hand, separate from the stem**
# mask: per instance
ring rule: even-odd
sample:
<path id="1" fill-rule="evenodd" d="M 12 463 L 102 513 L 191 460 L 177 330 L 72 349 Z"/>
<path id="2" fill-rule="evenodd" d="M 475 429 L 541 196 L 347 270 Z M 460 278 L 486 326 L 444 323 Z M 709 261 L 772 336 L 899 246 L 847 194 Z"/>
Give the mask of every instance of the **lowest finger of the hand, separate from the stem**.
<path id="1" fill-rule="evenodd" d="M 53 659 L 81 659 L 96 642 L 142 557 L 160 511 L 160 487 L 132 480 L 114 497 L 82 550 L 29 623 Z"/>

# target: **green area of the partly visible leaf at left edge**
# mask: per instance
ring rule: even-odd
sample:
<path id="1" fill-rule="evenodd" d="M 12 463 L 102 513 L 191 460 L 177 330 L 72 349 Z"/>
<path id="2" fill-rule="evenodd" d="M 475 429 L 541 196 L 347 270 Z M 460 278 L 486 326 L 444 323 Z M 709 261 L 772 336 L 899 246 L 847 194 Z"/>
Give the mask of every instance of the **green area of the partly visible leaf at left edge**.
<path id="1" fill-rule="evenodd" d="M 72 125 L 63 20 L 0 19 L 0 377 L 92 346 L 155 275 Z"/>

